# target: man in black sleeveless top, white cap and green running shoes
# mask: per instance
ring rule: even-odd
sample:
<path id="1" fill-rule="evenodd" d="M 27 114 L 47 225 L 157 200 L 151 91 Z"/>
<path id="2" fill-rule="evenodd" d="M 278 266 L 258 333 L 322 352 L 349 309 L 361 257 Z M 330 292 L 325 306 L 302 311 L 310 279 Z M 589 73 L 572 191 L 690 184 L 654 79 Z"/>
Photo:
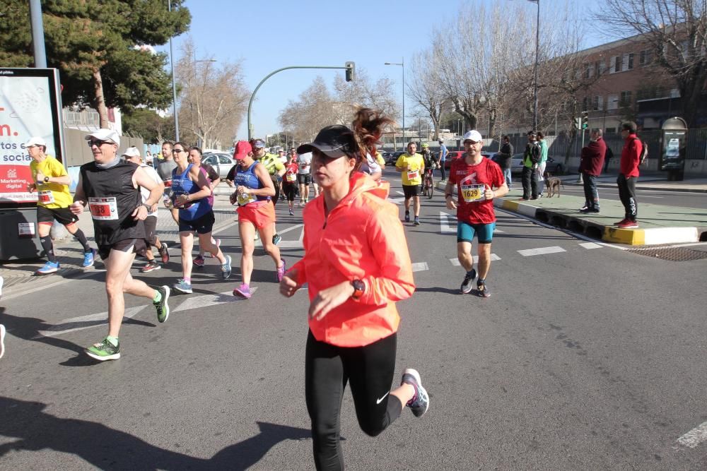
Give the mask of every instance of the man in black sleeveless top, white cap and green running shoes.
<path id="1" fill-rule="evenodd" d="M 108 295 L 108 335 L 86 349 L 86 354 L 101 362 L 120 358 L 118 334 L 125 311 L 124 293 L 151 299 L 157 320 L 170 314 L 167 301 L 170 288 L 156 290 L 130 275 L 136 252 L 147 248 L 144 220 L 160 201 L 162 186 L 141 167 L 118 158 L 120 138 L 111 129 L 99 129 L 86 136 L 93 162 L 81 165 L 71 212 L 83 213 L 88 204 L 98 254 L 105 263 L 105 290 Z M 139 187 L 150 191 L 142 201 Z"/>

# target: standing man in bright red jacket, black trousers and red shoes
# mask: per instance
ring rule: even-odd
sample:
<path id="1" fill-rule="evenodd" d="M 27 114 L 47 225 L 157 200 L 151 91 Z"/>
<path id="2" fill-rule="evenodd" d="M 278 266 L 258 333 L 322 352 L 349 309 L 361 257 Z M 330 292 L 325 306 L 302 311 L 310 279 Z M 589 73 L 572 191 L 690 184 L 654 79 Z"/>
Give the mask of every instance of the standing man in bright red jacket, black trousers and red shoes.
<path id="1" fill-rule="evenodd" d="M 621 124 L 621 137 L 624 138 L 624 150 L 621 150 L 621 164 L 619 166 L 619 198 L 624 205 L 626 217 L 616 223 L 621 229 L 636 229 L 638 222 L 638 203 L 636 202 L 636 179 L 638 179 L 638 165 L 641 163 L 643 143 L 636 137 L 636 123 L 628 121 Z"/>

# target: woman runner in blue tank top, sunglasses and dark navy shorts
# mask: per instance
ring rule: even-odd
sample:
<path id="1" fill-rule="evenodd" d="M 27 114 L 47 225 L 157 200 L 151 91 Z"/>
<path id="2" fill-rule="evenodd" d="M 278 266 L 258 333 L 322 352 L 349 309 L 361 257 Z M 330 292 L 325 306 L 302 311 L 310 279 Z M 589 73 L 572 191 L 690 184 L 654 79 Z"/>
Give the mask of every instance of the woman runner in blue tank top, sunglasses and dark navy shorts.
<path id="1" fill-rule="evenodd" d="M 230 277 L 230 256 L 224 256 L 221 249 L 211 242 L 211 229 L 215 220 L 214 193 L 206 174 L 189 163 L 184 143 L 175 143 L 174 157 L 177 168 L 172 171 L 172 204 L 179 208 L 179 238 L 182 244 L 182 279 L 177 280 L 174 287 L 179 292 L 191 293 L 193 231 L 197 231 L 199 244 L 204 250 L 218 258 L 224 280 Z"/>

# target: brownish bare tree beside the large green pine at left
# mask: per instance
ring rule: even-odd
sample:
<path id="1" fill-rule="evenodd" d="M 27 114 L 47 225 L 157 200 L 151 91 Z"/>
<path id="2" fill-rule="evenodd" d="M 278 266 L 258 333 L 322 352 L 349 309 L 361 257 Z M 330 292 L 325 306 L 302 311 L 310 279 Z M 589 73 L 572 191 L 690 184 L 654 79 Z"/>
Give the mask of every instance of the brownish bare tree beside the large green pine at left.
<path id="1" fill-rule="evenodd" d="M 250 92 L 240 63 L 196 58 L 189 37 L 175 70 L 180 84 L 180 123 L 204 148 L 230 144 L 243 121 Z M 188 134 L 187 134 L 188 135 Z"/>

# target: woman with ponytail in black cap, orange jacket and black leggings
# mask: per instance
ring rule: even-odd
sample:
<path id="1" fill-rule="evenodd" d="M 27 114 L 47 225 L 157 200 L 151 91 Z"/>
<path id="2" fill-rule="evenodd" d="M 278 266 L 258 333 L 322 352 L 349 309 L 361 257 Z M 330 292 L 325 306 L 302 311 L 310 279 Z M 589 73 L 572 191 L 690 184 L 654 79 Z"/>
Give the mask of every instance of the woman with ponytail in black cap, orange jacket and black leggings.
<path id="1" fill-rule="evenodd" d="M 386 201 L 389 185 L 357 171 L 390 124 L 380 112 L 360 109 L 352 129 L 327 126 L 297 149 L 312 153 L 323 197 L 303 210 L 305 255 L 280 292 L 291 297 L 308 283 L 305 395 L 317 470 L 344 468 L 339 416 L 346 383 L 358 424 L 370 436 L 405 405 L 416 417 L 429 405 L 414 369 L 390 390 L 400 321 L 395 302 L 411 297 L 415 284 L 397 206 Z"/>

